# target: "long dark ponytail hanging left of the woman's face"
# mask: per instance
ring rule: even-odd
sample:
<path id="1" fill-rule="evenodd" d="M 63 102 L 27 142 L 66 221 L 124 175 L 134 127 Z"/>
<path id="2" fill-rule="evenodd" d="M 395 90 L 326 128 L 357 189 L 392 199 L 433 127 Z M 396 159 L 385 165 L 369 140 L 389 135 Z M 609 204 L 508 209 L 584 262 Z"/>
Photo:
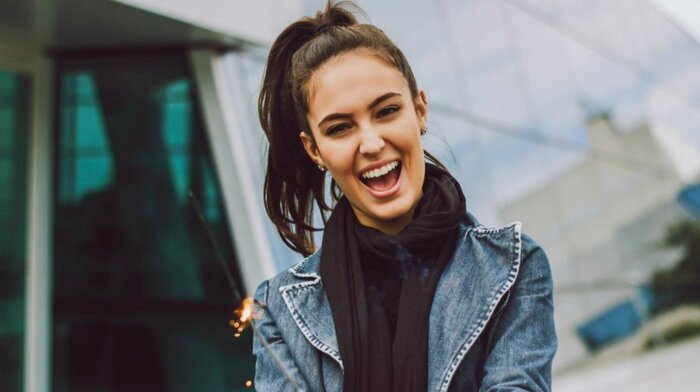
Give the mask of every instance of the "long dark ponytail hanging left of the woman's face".
<path id="1" fill-rule="evenodd" d="M 267 140 L 265 210 L 282 240 L 295 251 L 313 252 L 313 200 L 322 211 L 324 176 L 308 159 L 299 140 L 300 120 L 289 82 L 292 56 L 314 35 L 316 27 L 300 20 L 287 27 L 272 45 L 258 100 L 258 114 Z"/>

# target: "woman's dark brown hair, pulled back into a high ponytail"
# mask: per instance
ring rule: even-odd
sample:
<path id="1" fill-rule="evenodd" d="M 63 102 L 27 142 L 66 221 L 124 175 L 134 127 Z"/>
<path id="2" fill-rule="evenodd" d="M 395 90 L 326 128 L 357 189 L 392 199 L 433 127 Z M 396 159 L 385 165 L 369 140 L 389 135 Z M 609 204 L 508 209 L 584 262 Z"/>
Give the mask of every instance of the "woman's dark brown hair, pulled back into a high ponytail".
<path id="1" fill-rule="evenodd" d="M 418 94 L 411 67 L 401 50 L 371 24 L 360 24 L 349 2 L 329 1 L 324 11 L 289 25 L 272 44 L 258 99 L 260 125 L 270 143 L 265 174 L 265 209 L 282 240 L 293 250 L 308 256 L 315 250 L 313 205 L 319 207 L 325 223 L 331 211 L 325 199 L 325 174 L 307 156 L 299 132 L 313 137 L 306 120 L 308 82 L 329 59 L 365 48 L 374 50 L 396 67 L 408 82 L 415 99 Z M 426 157 L 444 167 L 430 153 Z M 335 182 L 331 196 L 340 198 Z"/>

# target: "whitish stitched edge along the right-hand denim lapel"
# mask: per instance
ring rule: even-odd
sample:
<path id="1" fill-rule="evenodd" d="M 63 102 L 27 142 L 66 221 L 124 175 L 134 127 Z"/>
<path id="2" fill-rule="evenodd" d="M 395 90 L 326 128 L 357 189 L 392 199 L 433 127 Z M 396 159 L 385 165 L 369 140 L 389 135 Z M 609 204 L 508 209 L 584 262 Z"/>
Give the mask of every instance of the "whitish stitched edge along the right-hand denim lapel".
<path id="1" fill-rule="evenodd" d="M 498 302 L 501 300 L 503 295 L 513 286 L 513 283 L 515 283 L 515 280 L 518 276 L 518 271 L 520 270 L 520 262 L 521 262 L 521 257 L 522 257 L 522 236 L 521 236 L 521 223 L 520 222 L 514 222 L 506 227 L 502 228 L 497 228 L 497 229 L 483 229 L 486 231 L 486 233 L 497 233 L 500 231 L 503 231 L 504 229 L 512 228 L 514 230 L 514 236 L 513 236 L 513 257 L 514 257 L 514 263 L 510 268 L 510 271 L 508 272 L 508 278 L 506 279 L 506 282 L 501 286 L 501 288 L 498 289 L 496 298 L 492 299 L 491 302 L 488 305 L 488 308 L 486 310 L 486 317 L 482 317 L 480 320 L 478 320 L 475 324 L 478 324 L 478 327 L 472 332 L 471 336 L 467 339 L 466 343 L 462 346 L 462 348 L 459 350 L 455 358 L 453 359 L 452 363 L 450 366 L 447 368 L 447 373 L 443 377 L 442 382 L 439 384 L 438 391 L 439 392 L 445 392 L 447 391 L 447 388 L 450 385 L 450 382 L 452 381 L 452 377 L 454 376 L 454 373 L 457 371 L 457 368 L 459 367 L 460 363 L 462 362 L 462 359 L 466 355 L 467 351 L 471 348 L 471 346 L 474 344 L 474 341 L 481 335 L 481 332 L 483 332 L 486 324 L 488 324 L 489 320 L 493 316 L 493 312 L 496 308 L 496 305 L 498 305 Z M 480 228 L 475 228 L 477 231 L 480 230 Z"/>

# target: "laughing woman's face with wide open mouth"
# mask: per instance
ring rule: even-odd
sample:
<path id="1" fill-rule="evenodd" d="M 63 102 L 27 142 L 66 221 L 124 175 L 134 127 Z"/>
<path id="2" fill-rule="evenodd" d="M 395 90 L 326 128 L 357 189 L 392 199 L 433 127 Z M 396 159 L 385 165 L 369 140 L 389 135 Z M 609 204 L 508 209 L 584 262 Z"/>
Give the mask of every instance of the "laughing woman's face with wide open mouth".
<path id="1" fill-rule="evenodd" d="M 328 60 L 307 88 L 313 139 L 300 134 L 307 153 L 328 169 L 362 225 L 398 233 L 423 196 L 425 93 L 411 97 L 401 72 L 368 49 Z"/>

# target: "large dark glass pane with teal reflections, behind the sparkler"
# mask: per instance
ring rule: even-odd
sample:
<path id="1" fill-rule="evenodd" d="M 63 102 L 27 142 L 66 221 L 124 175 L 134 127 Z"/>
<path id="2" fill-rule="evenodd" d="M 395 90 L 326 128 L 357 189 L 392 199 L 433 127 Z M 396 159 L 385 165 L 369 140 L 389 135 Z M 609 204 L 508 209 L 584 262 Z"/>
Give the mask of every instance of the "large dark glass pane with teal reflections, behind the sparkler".
<path id="1" fill-rule="evenodd" d="M 252 336 L 186 56 L 59 58 L 54 391 L 244 390 Z"/>

